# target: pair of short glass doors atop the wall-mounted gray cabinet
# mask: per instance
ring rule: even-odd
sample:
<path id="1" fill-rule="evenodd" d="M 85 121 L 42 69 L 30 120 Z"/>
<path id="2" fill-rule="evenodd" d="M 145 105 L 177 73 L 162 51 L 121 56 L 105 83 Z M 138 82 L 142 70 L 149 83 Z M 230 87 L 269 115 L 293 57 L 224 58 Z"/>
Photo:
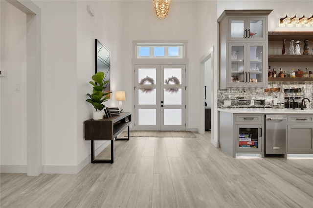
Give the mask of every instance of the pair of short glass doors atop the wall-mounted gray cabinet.
<path id="1" fill-rule="evenodd" d="M 229 18 L 229 40 L 266 40 L 266 18 Z"/>

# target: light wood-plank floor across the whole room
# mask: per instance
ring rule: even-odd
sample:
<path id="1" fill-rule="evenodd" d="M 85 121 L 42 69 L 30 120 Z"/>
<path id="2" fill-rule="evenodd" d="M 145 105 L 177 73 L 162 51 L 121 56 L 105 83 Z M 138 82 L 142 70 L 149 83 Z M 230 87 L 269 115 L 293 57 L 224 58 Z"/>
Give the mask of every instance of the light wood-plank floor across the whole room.
<path id="1" fill-rule="evenodd" d="M 78 174 L 1 174 L 0 207 L 313 208 L 312 158 L 232 158 L 195 135 L 114 141 L 113 164 Z"/>

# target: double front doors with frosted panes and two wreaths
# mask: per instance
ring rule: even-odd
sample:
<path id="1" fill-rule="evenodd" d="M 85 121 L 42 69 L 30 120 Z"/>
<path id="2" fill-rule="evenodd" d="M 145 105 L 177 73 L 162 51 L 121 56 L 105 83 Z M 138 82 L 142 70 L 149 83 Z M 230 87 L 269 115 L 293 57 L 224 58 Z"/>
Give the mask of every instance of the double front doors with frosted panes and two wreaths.
<path id="1" fill-rule="evenodd" d="M 135 65 L 135 130 L 185 131 L 185 65 Z"/>

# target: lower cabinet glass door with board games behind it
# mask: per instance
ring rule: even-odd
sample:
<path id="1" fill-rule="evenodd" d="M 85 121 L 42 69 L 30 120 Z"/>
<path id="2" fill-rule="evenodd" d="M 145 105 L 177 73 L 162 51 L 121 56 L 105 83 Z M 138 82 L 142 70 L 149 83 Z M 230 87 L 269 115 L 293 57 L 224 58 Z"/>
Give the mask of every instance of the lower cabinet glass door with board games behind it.
<path id="1" fill-rule="evenodd" d="M 262 125 L 236 125 L 236 152 L 262 152 Z"/>

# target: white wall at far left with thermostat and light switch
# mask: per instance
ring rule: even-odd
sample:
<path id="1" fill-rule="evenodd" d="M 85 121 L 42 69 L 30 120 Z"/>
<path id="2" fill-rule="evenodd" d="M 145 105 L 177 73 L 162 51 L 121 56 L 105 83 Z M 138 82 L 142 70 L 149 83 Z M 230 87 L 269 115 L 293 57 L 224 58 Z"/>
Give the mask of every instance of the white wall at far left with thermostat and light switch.
<path id="1" fill-rule="evenodd" d="M 0 68 L 6 70 L 6 77 L 0 77 L 1 166 L 27 171 L 26 15 L 7 1 L 0 4 Z"/>

